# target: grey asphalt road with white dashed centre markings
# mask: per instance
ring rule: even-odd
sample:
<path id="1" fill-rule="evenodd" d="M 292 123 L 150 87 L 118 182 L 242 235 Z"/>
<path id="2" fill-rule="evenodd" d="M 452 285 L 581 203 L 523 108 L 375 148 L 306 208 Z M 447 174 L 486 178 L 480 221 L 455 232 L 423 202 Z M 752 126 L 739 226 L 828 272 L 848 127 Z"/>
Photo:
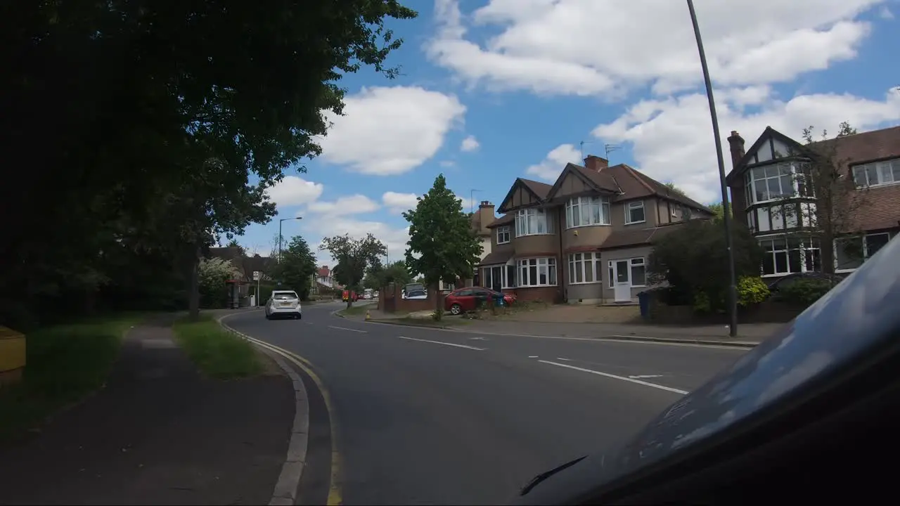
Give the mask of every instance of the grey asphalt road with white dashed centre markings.
<path id="1" fill-rule="evenodd" d="M 509 501 L 534 475 L 621 443 L 744 352 L 373 324 L 331 315 L 340 307 L 226 322 L 311 362 L 338 421 L 346 504 Z"/>

